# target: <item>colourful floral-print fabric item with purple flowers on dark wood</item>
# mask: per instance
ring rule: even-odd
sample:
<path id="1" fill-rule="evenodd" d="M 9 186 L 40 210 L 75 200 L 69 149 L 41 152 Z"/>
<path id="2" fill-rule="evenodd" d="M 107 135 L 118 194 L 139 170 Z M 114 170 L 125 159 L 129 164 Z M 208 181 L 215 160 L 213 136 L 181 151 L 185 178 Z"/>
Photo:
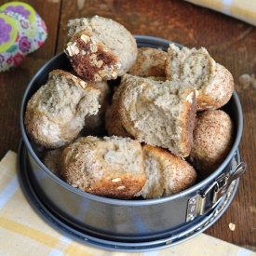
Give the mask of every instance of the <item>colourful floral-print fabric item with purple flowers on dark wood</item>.
<path id="1" fill-rule="evenodd" d="M 34 8 L 22 2 L 0 7 L 0 72 L 17 67 L 47 39 L 47 26 Z"/>

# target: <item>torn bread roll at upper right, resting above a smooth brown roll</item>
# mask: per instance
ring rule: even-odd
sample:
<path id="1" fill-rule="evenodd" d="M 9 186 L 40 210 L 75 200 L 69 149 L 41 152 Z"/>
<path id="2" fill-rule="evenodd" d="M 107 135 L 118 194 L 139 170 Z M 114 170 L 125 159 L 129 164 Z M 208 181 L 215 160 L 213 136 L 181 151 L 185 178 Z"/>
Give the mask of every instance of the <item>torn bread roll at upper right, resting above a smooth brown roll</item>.
<path id="1" fill-rule="evenodd" d="M 234 80 L 232 74 L 214 61 L 206 48 L 168 47 L 167 79 L 181 81 L 196 89 L 197 110 L 221 108 L 230 100 Z"/>

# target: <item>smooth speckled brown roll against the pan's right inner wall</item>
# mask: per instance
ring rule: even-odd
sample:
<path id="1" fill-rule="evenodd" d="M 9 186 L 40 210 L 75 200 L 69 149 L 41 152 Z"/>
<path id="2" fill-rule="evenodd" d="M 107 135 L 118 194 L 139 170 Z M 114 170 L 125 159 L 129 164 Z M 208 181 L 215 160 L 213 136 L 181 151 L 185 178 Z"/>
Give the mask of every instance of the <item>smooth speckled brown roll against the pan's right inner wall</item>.
<path id="1" fill-rule="evenodd" d="M 222 110 L 196 115 L 189 162 L 201 179 L 208 177 L 229 154 L 234 142 L 234 124 Z"/>

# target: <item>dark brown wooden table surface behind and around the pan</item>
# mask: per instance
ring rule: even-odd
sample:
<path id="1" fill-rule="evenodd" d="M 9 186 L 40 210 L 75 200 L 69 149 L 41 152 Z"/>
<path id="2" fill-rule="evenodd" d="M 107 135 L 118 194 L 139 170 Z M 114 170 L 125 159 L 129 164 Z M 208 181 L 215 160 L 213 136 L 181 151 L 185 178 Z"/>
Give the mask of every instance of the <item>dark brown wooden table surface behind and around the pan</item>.
<path id="1" fill-rule="evenodd" d="M 8 1 L 0 1 L 0 5 Z M 205 231 L 224 241 L 256 251 L 256 88 L 239 83 L 242 74 L 256 74 L 256 27 L 181 0 L 23 0 L 47 23 L 45 45 L 14 70 L 0 73 L 0 159 L 20 143 L 20 102 L 36 71 L 61 52 L 68 20 L 98 14 L 123 24 L 131 34 L 162 37 L 186 47 L 206 47 L 215 61 L 234 76 L 244 115 L 239 145 L 248 163 L 236 196 L 221 219 Z M 236 224 L 235 231 L 229 223 Z"/>

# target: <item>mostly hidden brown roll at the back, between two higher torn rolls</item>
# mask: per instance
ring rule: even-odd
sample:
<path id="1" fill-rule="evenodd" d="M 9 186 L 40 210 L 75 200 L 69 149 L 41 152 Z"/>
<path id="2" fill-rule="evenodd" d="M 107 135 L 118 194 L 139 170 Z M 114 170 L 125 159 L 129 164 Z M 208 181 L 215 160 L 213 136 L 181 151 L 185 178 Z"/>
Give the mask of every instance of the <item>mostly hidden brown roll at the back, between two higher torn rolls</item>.
<path id="1" fill-rule="evenodd" d="M 128 74 L 141 77 L 159 76 L 166 77 L 166 66 L 168 53 L 159 48 L 140 47 L 138 48 L 137 60 Z"/>

